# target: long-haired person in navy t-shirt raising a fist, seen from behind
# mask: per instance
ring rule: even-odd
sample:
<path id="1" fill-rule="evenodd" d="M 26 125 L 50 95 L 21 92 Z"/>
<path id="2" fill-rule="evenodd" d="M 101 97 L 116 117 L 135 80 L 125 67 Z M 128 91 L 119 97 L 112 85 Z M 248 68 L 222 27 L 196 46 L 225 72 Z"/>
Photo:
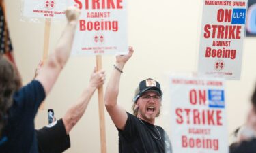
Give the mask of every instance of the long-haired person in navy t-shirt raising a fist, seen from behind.
<path id="1" fill-rule="evenodd" d="M 38 152 L 35 115 L 68 61 L 79 14 L 75 7 L 66 10 L 68 22 L 57 47 L 35 80 L 26 86 L 21 86 L 16 67 L 0 55 L 0 152 Z"/>

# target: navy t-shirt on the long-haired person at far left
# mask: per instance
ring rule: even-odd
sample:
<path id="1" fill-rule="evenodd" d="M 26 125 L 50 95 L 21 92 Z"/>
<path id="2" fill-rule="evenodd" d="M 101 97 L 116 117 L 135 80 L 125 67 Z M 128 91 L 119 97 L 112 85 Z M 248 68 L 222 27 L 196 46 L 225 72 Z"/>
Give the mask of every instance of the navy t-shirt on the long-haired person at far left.
<path id="1" fill-rule="evenodd" d="M 14 93 L 12 107 L 8 110 L 8 123 L 3 129 L 3 137 L 7 137 L 7 141 L 1 144 L 0 152 L 38 152 L 34 119 L 44 98 L 44 88 L 37 80 Z"/>

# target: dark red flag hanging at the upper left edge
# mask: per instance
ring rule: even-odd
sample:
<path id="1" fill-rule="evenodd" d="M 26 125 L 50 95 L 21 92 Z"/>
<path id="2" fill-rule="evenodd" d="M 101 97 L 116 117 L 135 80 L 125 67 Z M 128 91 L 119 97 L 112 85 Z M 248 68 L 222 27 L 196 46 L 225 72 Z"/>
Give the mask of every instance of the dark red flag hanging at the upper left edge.
<path id="1" fill-rule="evenodd" d="M 14 58 L 12 56 L 12 43 L 5 20 L 5 5 L 3 0 L 0 1 L 0 54 L 5 54 L 5 56 L 14 63 Z"/>

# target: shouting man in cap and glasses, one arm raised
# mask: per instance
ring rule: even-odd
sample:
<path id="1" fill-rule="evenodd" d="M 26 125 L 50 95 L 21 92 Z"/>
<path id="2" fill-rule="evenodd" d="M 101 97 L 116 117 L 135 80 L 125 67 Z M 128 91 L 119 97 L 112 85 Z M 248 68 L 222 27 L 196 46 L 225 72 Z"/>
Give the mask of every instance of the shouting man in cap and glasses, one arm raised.
<path id="1" fill-rule="evenodd" d="M 127 55 L 117 56 L 111 78 L 106 87 L 105 105 L 119 131 L 119 152 L 121 153 L 164 153 L 171 152 L 171 142 L 167 133 L 155 125 L 160 114 L 162 90 L 153 79 L 142 80 L 135 91 L 133 115 L 126 112 L 119 104 L 120 77 L 126 62 L 132 56 L 133 48 Z"/>

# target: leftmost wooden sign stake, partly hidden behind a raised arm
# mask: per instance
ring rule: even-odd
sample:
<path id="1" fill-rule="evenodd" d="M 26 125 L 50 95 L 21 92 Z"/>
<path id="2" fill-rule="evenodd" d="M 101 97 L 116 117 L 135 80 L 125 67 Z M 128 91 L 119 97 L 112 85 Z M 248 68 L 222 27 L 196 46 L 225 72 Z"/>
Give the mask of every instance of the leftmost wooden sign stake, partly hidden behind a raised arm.
<path id="1" fill-rule="evenodd" d="M 46 18 L 45 27 L 44 27 L 44 53 L 42 57 L 43 65 L 46 62 L 49 54 L 50 28 L 51 28 L 51 18 Z M 41 103 L 39 109 L 44 110 L 44 101 Z"/>

